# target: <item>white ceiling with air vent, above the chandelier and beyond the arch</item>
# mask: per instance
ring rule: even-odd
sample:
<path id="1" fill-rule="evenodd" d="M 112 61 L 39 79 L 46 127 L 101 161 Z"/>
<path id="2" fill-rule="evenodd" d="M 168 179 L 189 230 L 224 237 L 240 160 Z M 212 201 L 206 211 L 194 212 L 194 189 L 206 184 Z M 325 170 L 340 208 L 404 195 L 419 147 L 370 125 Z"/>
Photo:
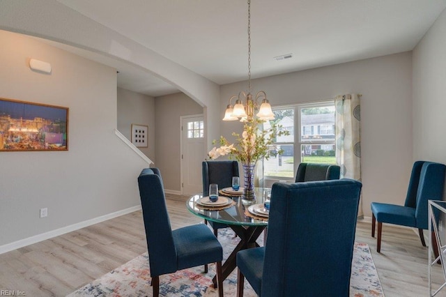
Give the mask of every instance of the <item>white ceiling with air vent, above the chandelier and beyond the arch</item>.
<path id="1" fill-rule="evenodd" d="M 217 84 L 247 79 L 243 0 L 57 0 Z M 446 0 L 252 0 L 252 78 L 413 50 Z M 122 61 L 118 86 L 162 96 L 174 87 Z M 275 61 L 275 56 L 293 54 Z"/>

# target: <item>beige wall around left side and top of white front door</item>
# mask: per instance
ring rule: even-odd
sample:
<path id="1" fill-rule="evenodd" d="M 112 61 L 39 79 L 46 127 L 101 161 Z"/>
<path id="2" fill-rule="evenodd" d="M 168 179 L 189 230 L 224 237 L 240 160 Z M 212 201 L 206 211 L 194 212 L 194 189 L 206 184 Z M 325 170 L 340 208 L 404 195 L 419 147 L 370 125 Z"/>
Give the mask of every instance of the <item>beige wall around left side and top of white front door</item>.
<path id="1" fill-rule="evenodd" d="M 167 191 L 181 190 L 180 116 L 192 114 L 203 114 L 203 107 L 184 93 L 155 98 L 155 167 Z"/>

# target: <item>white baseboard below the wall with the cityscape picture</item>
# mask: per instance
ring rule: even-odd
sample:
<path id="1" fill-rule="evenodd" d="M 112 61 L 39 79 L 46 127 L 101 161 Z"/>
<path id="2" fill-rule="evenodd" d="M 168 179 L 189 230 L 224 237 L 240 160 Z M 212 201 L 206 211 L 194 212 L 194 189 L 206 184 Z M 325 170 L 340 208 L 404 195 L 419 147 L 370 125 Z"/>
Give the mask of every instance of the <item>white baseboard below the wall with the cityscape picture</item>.
<path id="1" fill-rule="evenodd" d="M 121 215 L 126 215 L 127 213 L 132 213 L 134 211 L 138 211 L 139 209 L 141 209 L 140 205 L 132 206 L 130 208 L 125 208 L 121 211 L 115 211 L 114 213 L 108 213 L 107 215 L 101 215 L 98 218 L 93 218 L 91 220 L 86 220 L 84 222 L 78 222 L 76 224 L 71 224 L 70 226 L 62 227 L 62 228 L 55 229 L 52 231 L 47 231 L 45 233 L 31 236 L 28 238 L 24 238 L 24 239 L 21 239 L 20 241 L 15 241 L 13 243 L 7 243 L 6 245 L 0 246 L 0 254 L 3 254 L 5 252 L 10 252 L 11 250 L 17 250 L 18 248 L 23 248 L 26 245 L 38 243 L 39 241 L 45 241 L 49 238 L 60 236 L 62 234 L 66 234 L 71 231 L 82 229 L 82 228 L 88 227 L 92 224 L 98 224 L 99 222 L 103 222 L 105 220 L 110 220 L 112 218 L 116 218 Z"/>

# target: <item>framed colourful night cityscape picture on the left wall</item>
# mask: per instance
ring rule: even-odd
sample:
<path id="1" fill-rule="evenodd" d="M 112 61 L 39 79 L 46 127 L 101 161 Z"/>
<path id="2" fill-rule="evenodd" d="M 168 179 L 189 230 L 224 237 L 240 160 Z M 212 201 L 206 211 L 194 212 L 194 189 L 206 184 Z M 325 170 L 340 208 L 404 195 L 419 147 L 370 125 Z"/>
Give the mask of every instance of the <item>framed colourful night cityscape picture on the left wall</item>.
<path id="1" fill-rule="evenodd" d="M 68 151 L 68 107 L 0 98 L 0 151 Z"/>

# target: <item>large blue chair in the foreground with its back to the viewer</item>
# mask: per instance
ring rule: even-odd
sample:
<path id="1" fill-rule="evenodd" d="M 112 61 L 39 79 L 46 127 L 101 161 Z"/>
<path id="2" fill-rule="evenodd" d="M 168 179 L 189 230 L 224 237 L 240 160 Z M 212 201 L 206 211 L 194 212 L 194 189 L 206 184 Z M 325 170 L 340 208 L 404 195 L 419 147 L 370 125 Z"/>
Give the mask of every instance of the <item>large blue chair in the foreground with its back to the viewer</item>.
<path id="1" fill-rule="evenodd" d="M 268 241 L 237 253 L 259 296 L 348 296 L 362 184 L 351 179 L 272 185 Z"/>

